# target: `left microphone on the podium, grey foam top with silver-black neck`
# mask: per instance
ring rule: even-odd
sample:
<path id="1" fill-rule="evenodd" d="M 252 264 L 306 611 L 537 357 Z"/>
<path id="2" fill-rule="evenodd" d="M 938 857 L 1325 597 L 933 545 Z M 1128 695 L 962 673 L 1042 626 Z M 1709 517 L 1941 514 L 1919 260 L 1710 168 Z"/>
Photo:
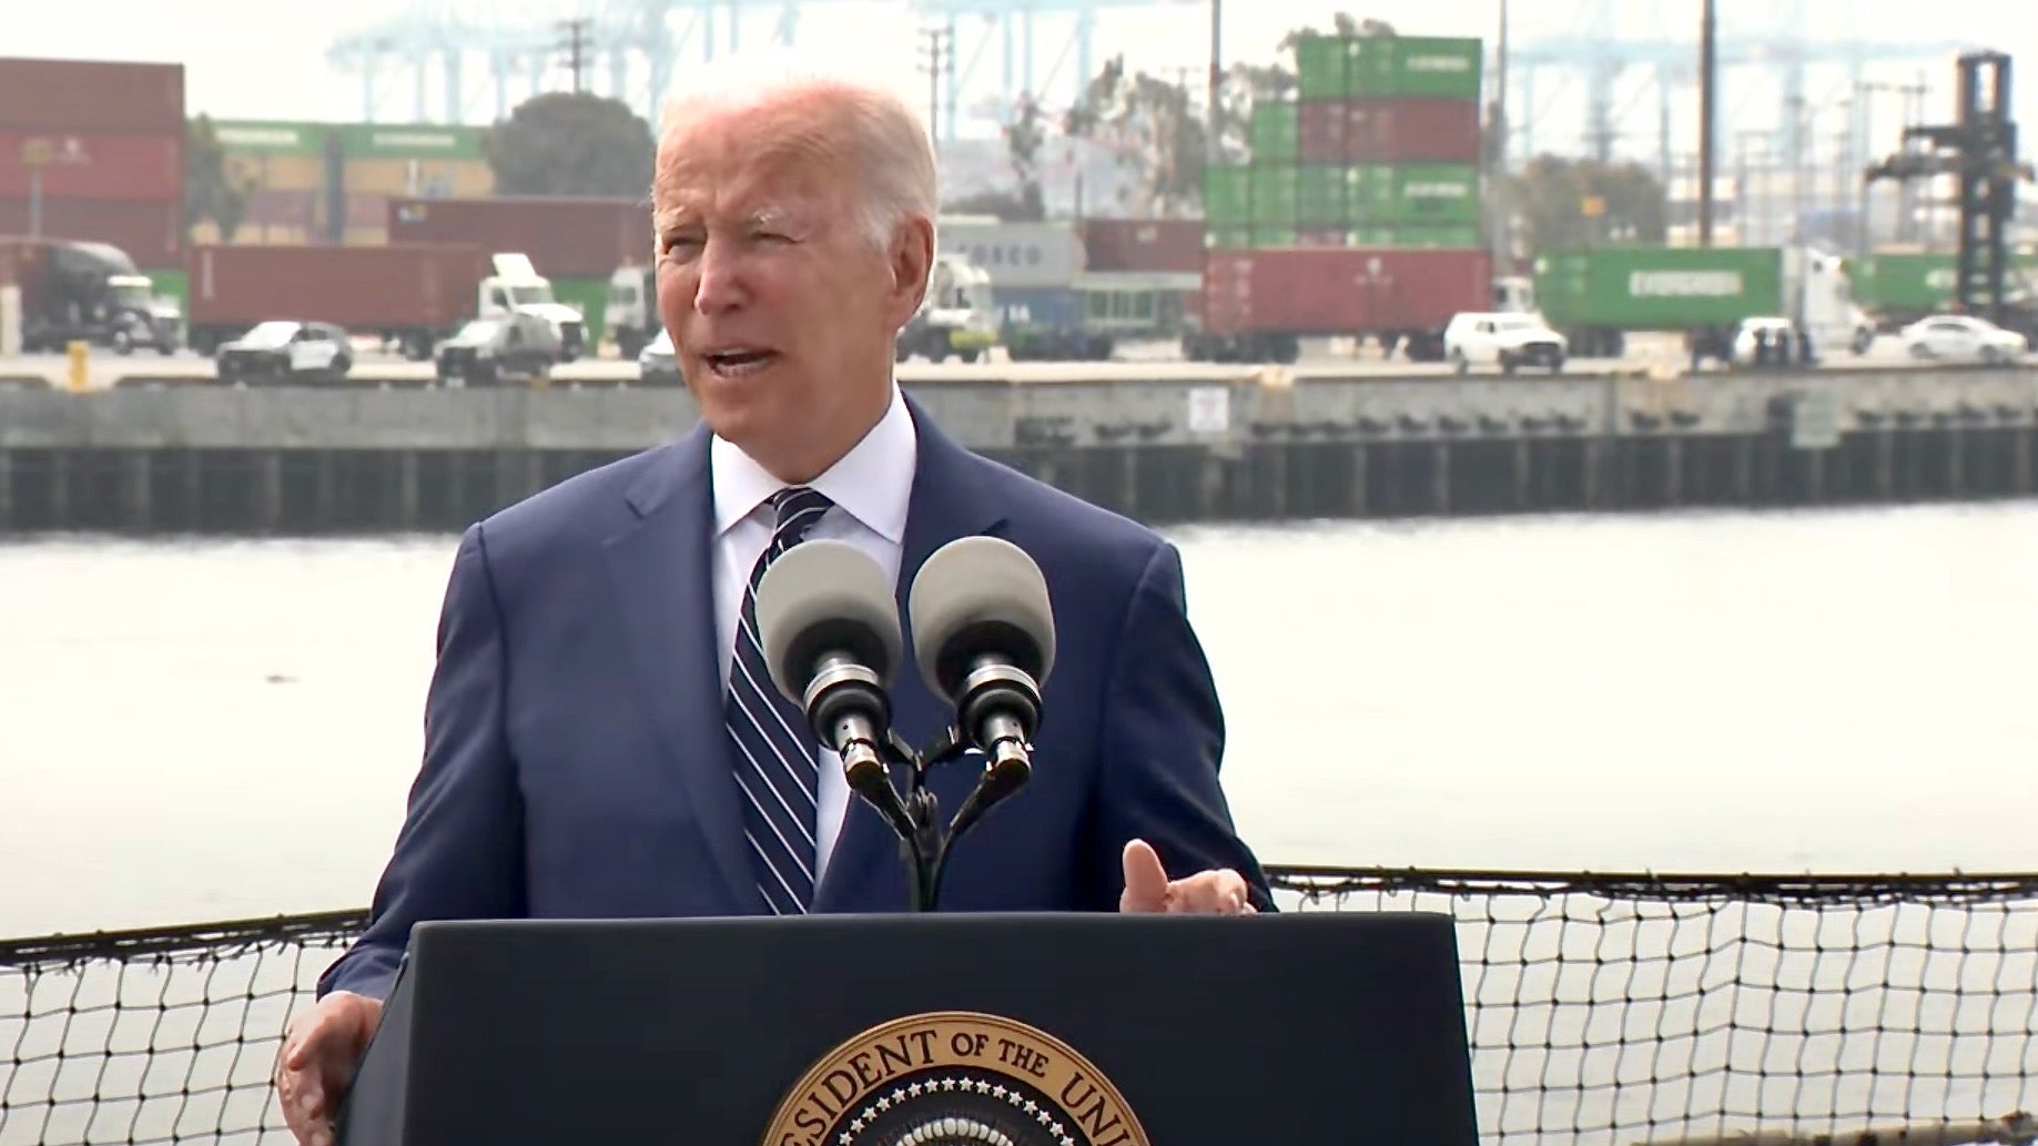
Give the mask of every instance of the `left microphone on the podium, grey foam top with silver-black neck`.
<path id="1" fill-rule="evenodd" d="M 785 551 L 756 587 L 758 644 L 770 679 L 842 757 L 850 789 L 913 836 L 880 744 L 891 734 L 899 606 L 876 561 L 842 540 Z"/>

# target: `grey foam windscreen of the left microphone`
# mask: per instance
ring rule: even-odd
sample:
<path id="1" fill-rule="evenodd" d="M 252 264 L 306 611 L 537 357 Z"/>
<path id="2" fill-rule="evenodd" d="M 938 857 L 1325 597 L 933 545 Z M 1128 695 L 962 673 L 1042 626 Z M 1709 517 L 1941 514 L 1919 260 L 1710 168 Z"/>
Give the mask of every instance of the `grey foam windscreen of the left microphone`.
<path id="1" fill-rule="evenodd" d="M 756 589 L 758 644 L 779 691 L 805 704 L 815 661 L 848 653 L 891 687 L 903 638 L 884 571 L 846 540 L 807 540 L 779 555 Z"/>

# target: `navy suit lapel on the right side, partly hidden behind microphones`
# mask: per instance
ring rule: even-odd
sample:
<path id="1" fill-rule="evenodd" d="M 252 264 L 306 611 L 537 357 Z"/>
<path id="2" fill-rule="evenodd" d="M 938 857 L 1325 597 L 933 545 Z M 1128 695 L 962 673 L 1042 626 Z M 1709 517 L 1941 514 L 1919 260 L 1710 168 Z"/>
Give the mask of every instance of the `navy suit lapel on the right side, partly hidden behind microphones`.
<path id="1" fill-rule="evenodd" d="M 905 736 L 913 748 L 925 746 L 927 738 L 952 722 L 950 708 L 921 683 L 919 663 L 913 657 L 913 624 L 907 612 L 913 577 L 935 549 L 956 540 L 997 532 L 1003 514 L 997 502 L 978 485 L 982 465 L 968 451 L 944 434 L 927 412 L 907 398 L 913 414 L 913 432 L 919 438 L 913 463 L 913 496 L 907 502 L 905 538 L 899 553 L 899 626 L 905 630 L 905 663 L 893 677 L 893 728 Z M 952 769 L 958 765 L 950 765 Z M 903 779 L 903 777 L 901 777 Z M 944 822 L 954 816 L 954 801 L 942 805 Z M 844 816 L 842 834 L 836 838 L 836 852 L 827 861 L 821 887 L 815 889 L 815 911 L 840 911 L 854 899 L 854 891 L 864 885 L 870 865 L 884 861 L 899 865 L 899 836 L 891 826 L 856 793 L 850 793 L 850 808 Z M 899 907 L 905 907 L 901 897 Z"/>

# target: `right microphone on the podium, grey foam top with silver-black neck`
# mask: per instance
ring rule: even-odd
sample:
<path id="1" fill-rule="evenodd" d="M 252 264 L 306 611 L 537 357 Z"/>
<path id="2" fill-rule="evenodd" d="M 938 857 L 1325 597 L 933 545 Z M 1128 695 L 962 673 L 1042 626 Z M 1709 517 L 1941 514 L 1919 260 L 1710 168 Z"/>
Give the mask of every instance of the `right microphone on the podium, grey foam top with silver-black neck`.
<path id="1" fill-rule="evenodd" d="M 1027 781 L 1039 687 L 1054 667 L 1054 608 L 1039 565 L 993 536 L 937 549 L 913 577 L 907 602 L 913 655 L 935 695 L 956 706 L 962 740 L 986 757 L 974 818 Z"/>

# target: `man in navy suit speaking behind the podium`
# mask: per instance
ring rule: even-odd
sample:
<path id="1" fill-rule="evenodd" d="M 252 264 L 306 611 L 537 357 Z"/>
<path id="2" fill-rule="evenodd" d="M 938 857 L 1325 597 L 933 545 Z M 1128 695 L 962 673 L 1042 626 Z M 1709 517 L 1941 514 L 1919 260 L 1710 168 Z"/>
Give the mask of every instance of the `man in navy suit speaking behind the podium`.
<path id="1" fill-rule="evenodd" d="M 1037 767 L 954 854 L 944 909 L 1272 909 L 1217 781 L 1223 716 L 1174 546 L 966 453 L 893 381 L 933 216 L 925 131 L 891 94 L 748 69 L 668 110 L 658 300 L 701 424 L 461 538 L 373 920 L 277 1058 L 300 1142 L 330 1142 L 418 920 L 907 905 L 891 828 L 756 648 L 748 589 L 807 538 L 860 546 L 901 597 L 972 534 L 1048 581 Z M 913 744 L 952 716 L 913 665 L 893 704 Z M 937 773 L 944 808 L 976 771 Z"/>

